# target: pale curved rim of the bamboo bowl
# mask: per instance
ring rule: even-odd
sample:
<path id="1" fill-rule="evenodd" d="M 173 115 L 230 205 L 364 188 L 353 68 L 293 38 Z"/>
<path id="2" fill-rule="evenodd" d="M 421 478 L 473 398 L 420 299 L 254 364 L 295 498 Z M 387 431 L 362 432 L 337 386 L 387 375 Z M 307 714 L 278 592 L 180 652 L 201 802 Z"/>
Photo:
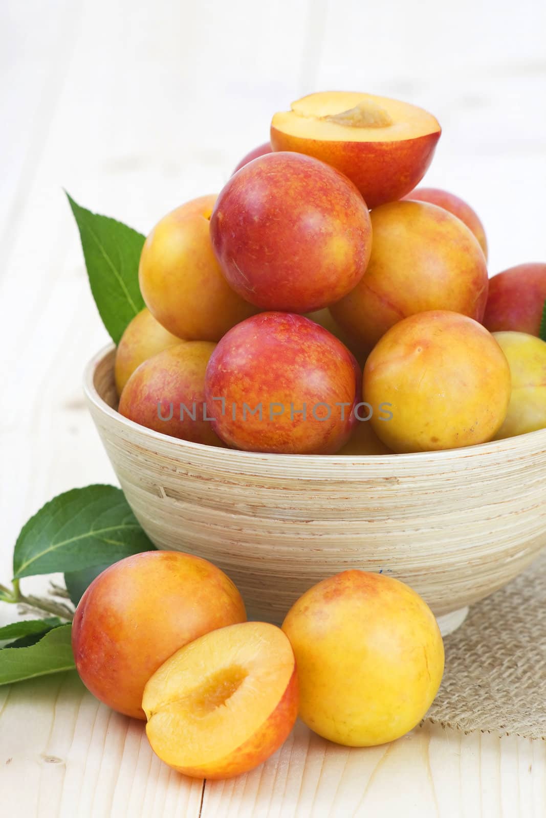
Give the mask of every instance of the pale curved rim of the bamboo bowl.
<path id="1" fill-rule="evenodd" d="M 546 428 L 538 429 L 535 432 L 527 432 L 520 434 L 513 438 L 504 438 L 503 440 L 492 440 L 489 443 L 476 443 L 474 446 L 467 446 L 458 449 L 441 449 L 437 452 L 408 452 L 406 454 L 390 454 L 390 455 L 288 455 L 275 454 L 273 452 L 242 452 L 239 449 L 229 449 L 215 446 L 207 446 L 205 443 L 193 443 L 189 440 L 182 440 L 174 438 L 169 434 L 162 434 L 156 432 L 154 429 L 148 429 L 135 423 L 133 420 L 120 415 L 118 411 L 112 409 L 106 401 L 97 392 L 95 387 L 95 373 L 97 368 L 106 357 L 115 351 L 115 344 L 106 344 L 105 347 L 99 350 L 83 371 L 83 393 L 103 415 L 109 416 L 115 423 L 125 426 L 127 429 L 138 432 L 144 438 L 149 438 L 150 441 L 160 441 L 161 443 L 169 443 L 174 450 L 181 453 L 190 454 L 192 452 L 214 453 L 214 456 L 222 457 L 225 454 L 228 457 L 230 465 L 234 465 L 238 458 L 241 462 L 246 462 L 250 465 L 252 461 L 264 463 L 264 461 L 274 462 L 276 464 L 286 463 L 288 465 L 309 465 L 309 471 L 316 475 L 317 469 L 325 469 L 329 465 L 395 465 L 402 462 L 414 462 L 423 464 L 424 461 L 463 461 L 463 459 L 470 456 L 480 455 L 494 455 L 499 452 L 517 452 L 521 448 L 521 443 L 530 443 L 531 440 L 536 440 L 536 451 L 539 452 L 540 447 L 546 447 Z M 524 447 L 525 448 L 525 447 Z M 303 475 L 302 475 L 303 476 Z"/>

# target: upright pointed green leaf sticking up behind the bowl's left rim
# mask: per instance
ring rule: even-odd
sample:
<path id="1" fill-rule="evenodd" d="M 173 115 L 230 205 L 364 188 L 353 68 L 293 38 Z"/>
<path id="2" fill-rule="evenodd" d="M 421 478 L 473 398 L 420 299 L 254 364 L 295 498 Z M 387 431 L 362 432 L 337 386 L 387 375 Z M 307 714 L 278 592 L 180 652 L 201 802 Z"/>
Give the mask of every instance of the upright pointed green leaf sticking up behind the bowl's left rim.
<path id="1" fill-rule="evenodd" d="M 67 193 L 82 240 L 91 292 L 111 339 L 118 344 L 125 327 L 144 308 L 138 287 L 142 233 L 115 218 L 92 213 Z"/>

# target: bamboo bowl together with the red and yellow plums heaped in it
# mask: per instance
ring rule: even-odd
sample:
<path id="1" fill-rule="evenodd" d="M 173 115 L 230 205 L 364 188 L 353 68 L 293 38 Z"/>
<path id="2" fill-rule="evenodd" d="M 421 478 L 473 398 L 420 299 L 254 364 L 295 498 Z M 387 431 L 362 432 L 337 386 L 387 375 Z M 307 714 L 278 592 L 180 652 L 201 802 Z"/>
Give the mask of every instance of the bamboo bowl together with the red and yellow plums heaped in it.
<path id="1" fill-rule="evenodd" d="M 544 544 L 546 265 L 488 303 L 476 213 L 413 191 L 439 137 L 368 94 L 276 114 L 218 197 L 151 231 L 147 309 L 88 369 L 151 539 L 214 560 L 259 618 L 359 567 L 449 630 Z"/>

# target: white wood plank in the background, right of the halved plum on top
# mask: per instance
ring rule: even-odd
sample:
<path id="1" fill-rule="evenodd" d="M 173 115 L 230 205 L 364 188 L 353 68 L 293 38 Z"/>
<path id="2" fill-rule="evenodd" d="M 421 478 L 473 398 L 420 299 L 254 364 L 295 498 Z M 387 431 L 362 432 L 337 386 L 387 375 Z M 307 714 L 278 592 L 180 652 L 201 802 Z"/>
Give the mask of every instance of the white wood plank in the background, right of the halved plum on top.
<path id="1" fill-rule="evenodd" d="M 317 89 L 421 105 L 443 128 L 423 184 L 485 224 L 490 272 L 544 261 L 546 6 L 522 0 L 328 2 Z M 289 102 L 289 101 L 287 101 Z"/>

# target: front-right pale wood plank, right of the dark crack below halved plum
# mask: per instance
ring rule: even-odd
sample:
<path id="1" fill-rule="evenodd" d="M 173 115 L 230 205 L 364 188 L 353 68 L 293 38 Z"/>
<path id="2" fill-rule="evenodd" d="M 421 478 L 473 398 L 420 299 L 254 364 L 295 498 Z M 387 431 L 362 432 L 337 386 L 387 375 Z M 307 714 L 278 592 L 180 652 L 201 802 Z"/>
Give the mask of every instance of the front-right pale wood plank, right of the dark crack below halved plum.
<path id="1" fill-rule="evenodd" d="M 523 775 L 517 754 L 541 764 Z M 203 818 L 526 818 L 539 816 L 546 747 L 426 724 L 377 748 L 344 748 L 300 723 L 257 770 L 209 781 Z M 535 776 L 535 778 L 534 778 Z"/>

